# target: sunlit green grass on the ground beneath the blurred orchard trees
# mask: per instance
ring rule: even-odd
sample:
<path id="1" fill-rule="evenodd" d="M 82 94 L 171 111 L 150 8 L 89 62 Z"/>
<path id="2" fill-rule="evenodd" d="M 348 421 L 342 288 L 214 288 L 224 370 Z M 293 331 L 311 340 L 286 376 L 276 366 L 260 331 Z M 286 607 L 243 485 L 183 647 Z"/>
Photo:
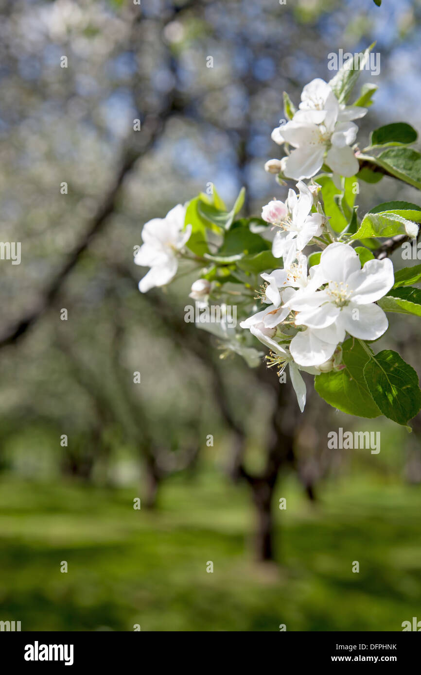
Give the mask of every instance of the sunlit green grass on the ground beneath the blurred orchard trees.
<path id="1" fill-rule="evenodd" d="M 401 630 L 421 619 L 418 487 L 336 483 L 312 508 L 293 479 L 282 484 L 278 566 L 253 562 L 245 487 L 209 471 L 168 481 L 155 513 L 133 510 L 137 496 L 3 477 L 0 619 L 182 631 Z"/>

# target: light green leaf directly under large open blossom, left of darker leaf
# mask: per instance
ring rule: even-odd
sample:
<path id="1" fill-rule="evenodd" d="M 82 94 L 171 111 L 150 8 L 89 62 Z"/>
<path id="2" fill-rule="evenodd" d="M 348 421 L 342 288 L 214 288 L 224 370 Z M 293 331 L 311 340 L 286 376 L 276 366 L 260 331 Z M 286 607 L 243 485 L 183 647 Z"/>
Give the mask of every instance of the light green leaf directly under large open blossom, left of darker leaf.
<path id="1" fill-rule="evenodd" d="M 374 403 L 364 379 L 364 366 L 370 357 L 364 348 L 353 340 L 344 342 L 342 350 L 346 368 L 317 375 L 314 379 L 316 391 L 330 406 L 347 414 L 378 417 L 380 410 Z"/>

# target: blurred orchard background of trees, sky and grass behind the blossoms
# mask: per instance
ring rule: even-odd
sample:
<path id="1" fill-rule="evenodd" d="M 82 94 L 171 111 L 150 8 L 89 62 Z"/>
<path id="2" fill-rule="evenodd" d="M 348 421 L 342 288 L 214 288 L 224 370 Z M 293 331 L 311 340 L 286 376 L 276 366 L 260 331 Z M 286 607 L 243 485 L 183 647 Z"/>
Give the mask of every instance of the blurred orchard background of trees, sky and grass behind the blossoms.
<path id="1" fill-rule="evenodd" d="M 409 435 L 314 393 L 297 414 L 289 385 L 184 323 L 197 271 L 141 296 L 132 257 L 145 221 L 210 182 L 228 203 L 245 185 L 249 214 L 286 196 L 263 170 L 282 91 L 328 80 L 328 53 L 377 41 L 361 147 L 391 121 L 420 132 L 421 2 L 0 7 L 1 240 L 22 242 L 20 265 L 0 261 L 0 619 L 401 630 L 420 612 L 418 418 Z M 383 178 L 360 213 L 393 198 L 419 203 Z M 391 323 L 379 348 L 419 371 L 416 318 Z M 329 451 L 339 426 L 380 431 L 380 454 Z"/>

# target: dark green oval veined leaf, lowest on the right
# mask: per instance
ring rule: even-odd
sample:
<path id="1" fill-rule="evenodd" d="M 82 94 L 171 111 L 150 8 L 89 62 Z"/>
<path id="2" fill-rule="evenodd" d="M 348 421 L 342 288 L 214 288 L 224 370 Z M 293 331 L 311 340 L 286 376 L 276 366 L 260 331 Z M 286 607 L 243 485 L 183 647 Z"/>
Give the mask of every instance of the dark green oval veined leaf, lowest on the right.
<path id="1" fill-rule="evenodd" d="M 371 354 L 364 379 L 378 408 L 397 424 L 407 425 L 420 410 L 418 375 L 396 352 L 387 349 Z"/>

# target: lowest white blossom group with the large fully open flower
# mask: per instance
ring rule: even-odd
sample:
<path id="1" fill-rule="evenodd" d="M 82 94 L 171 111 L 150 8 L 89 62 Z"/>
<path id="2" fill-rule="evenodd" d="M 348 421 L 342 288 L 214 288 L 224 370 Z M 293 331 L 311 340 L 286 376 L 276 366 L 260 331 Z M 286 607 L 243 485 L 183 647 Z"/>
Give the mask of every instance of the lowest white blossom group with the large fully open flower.
<path id="1" fill-rule="evenodd" d="M 389 259 L 370 260 L 362 268 L 352 246 L 334 242 L 308 275 L 307 258 L 299 252 L 284 269 L 261 276 L 266 281 L 263 301 L 270 304 L 240 325 L 272 350 L 270 362 L 279 365 L 279 375 L 289 364 L 303 410 L 299 370 L 316 375 L 340 369 L 338 346 L 347 333 L 376 340 L 387 330 L 385 312 L 374 303 L 392 288 L 393 265 Z"/>

